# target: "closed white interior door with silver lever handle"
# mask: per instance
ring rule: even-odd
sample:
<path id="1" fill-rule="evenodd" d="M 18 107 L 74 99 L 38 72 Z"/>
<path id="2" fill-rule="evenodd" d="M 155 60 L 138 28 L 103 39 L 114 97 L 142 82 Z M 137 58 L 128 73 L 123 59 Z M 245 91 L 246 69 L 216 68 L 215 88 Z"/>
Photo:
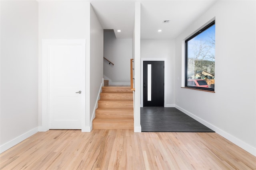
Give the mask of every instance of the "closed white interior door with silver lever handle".
<path id="1" fill-rule="evenodd" d="M 54 42 L 54 41 L 53 41 Z M 49 129 L 81 129 L 85 112 L 85 45 L 48 45 Z"/>

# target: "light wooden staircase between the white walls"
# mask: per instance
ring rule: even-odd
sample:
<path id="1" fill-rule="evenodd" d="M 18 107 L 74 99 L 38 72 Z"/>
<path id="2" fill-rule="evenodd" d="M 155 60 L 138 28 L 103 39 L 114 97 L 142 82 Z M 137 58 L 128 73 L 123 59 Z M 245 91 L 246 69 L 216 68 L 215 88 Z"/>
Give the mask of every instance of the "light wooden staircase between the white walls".
<path id="1" fill-rule="evenodd" d="M 130 86 L 103 86 L 92 129 L 134 129 Z"/>

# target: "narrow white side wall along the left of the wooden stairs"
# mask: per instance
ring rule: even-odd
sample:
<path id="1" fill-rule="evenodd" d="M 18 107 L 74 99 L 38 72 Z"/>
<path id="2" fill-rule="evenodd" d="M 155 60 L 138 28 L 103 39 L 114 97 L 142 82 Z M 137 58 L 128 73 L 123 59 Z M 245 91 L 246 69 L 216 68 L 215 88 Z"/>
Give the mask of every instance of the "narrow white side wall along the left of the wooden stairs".
<path id="1" fill-rule="evenodd" d="M 90 6 L 90 127 L 98 107 L 103 78 L 103 28 Z"/>

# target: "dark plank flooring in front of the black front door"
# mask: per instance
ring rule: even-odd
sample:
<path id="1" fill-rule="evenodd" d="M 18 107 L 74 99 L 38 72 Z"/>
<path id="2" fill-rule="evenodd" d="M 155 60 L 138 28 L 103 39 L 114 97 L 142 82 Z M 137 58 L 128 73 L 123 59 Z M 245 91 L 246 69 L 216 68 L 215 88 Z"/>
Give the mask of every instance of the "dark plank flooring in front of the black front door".
<path id="1" fill-rule="evenodd" d="M 143 132 L 214 132 L 175 107 L 140 107 Z"/>

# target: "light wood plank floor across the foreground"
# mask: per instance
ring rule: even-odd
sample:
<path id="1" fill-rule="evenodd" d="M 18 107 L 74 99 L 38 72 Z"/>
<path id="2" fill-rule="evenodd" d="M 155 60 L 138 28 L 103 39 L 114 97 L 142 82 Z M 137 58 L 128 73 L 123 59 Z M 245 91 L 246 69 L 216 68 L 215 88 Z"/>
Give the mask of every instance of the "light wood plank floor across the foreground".
<path id="1" fill-rule="evenodd" d="M 38 132 L 0 154 L 0 169 L 256 169 L 256 157 L 216 133 Z"/>

